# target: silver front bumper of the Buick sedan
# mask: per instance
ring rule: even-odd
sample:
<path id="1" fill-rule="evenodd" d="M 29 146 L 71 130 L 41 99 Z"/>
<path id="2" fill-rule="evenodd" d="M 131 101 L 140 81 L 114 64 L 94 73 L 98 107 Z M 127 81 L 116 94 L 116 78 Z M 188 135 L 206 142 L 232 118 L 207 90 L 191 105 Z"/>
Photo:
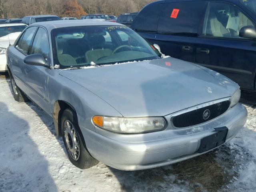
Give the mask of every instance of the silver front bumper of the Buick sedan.
<path id="1" fill-rule="evenodd" d="M 169 116 L 166 119 L 170 119 Z M 186 129 L 168 127 L 146 134 L 116 134 L 101 128 L 96 128 L 96 132 L 80 128 L 86 147 L 94 158 L 120 170 L 143 170 L 201 155 L 197 153 L 201 139 L 213 134 L 217 127 L 228 128 L 228 142 L 238 134 L 246 119 L 246 108 L 236 104 L 222 116 Z"/>

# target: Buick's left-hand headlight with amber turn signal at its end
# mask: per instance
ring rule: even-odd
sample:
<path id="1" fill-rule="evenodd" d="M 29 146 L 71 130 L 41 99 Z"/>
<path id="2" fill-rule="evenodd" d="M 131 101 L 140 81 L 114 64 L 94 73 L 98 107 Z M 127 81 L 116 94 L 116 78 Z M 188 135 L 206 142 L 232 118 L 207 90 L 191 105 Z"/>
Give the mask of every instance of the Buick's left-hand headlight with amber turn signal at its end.
<path id="1" fill-rule="evenodd" d="M 163 117 L 108 117 L 94 116 L 92 122 L 103 129 L 118 133 L 143 133 L 162 130 L 167 123 Z"/>

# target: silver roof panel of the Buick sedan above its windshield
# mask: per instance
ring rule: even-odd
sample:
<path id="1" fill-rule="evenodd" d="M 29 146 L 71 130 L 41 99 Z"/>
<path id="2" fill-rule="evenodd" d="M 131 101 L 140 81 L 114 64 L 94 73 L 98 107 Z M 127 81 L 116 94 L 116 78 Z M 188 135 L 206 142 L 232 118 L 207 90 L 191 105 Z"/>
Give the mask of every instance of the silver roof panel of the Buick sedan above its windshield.
<path id="1" fill-rule="evenodd" d="M 31 24 L 30 26 L 43 26 L 49 31 L 55 28 L 64 28 L 64 27 L 75 27 L 75 26 L 99 26 L 99 25 L 110 25 L 110 26 L 124 26 L 120 23 L 108 22 L 108 21 L 100 21 L 94 19 L 88 20 L 57 20 L 57 21 L 47 21 L 47 22 L 36 22 Z"/>

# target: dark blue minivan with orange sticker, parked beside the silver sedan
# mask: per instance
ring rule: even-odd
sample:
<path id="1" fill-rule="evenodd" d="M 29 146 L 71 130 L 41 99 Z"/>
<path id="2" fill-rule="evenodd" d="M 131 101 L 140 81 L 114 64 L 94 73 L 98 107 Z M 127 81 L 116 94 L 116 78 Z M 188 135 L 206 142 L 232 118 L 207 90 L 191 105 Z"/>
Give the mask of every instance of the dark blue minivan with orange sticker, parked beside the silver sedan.
<path id="1" fill-rule="evenodd" d="M 145 6 L 132 29 L 164 54 L 215 70 L 256 103 L 256 0 L 164 0 Z"/>

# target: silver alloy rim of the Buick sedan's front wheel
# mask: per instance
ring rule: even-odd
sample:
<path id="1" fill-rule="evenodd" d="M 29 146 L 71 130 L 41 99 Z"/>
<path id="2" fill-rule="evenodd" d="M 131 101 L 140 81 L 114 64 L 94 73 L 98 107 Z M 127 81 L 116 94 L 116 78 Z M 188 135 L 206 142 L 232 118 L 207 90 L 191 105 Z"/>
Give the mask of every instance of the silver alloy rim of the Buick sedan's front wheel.
<path id="1" fill-rule="evenodd" d="M 68 152 L 72 159 L 77 161 L 80 156 L 80 146 L 78 141 L 78 134 L 74 125 L 69 120 L 64 122 L 64 138 L 68 148 Z"/>

